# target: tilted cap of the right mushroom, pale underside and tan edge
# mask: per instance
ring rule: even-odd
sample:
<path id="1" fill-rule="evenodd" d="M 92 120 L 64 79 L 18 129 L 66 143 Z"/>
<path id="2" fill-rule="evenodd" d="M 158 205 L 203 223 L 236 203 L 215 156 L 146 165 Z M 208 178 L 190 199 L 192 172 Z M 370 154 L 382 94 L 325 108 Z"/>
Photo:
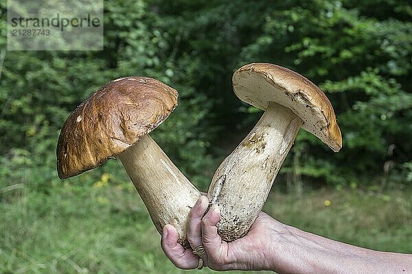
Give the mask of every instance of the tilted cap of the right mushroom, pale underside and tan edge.
<path id="1" fill-rule="evenodd" d="M 233 90 L 244 102 L 266 110 L 271 102 L 284 105 L 300 119 L 306 131 L 337 152 L 342 148 L 341 129 L 328 97 L 306 77 L 282 66 L 252 63 L 233 73 Z"/>

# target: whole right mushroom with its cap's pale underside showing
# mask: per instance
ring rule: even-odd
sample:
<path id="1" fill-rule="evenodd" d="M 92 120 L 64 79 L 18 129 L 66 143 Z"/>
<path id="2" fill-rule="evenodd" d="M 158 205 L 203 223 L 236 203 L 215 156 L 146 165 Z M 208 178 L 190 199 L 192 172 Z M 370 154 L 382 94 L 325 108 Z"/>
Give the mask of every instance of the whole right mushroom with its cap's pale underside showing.
<path id="1" fill-rule="evenodd" d="M 223 240 L 244 236 L 268 197 L 277 172 L 300 127 L 337 152 L 341 130 L 324 93 L 308 79 L 282 66 L 254 63 L 233 74 L 233 90 L 264 114 L 218 167 L 207 196 L 218 203 Z"/>

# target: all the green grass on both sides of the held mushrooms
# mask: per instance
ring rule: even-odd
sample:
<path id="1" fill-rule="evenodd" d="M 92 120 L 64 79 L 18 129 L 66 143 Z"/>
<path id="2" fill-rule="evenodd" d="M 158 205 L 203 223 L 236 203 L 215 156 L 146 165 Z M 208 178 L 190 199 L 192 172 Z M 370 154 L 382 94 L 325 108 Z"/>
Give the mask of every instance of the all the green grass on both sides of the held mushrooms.
<path id="1" fill-rule="evenodd" d="M 412 190 L 275 192 L 264 210 L 328 238 L 412 253 L 411 195 Z M 0 192 L 0 210 L 2 274 L 198 273 L 176 269 L 165 258 L 160 235 L 131 184 L 69 181 L 48 193 L 12 189 Z"/>

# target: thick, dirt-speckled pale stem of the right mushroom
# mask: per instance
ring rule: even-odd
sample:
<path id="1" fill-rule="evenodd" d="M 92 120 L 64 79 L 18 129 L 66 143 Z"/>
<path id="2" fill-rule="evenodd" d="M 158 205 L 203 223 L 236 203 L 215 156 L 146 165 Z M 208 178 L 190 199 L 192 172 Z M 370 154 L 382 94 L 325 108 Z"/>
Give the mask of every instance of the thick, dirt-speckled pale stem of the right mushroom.
<path id="1" fill-rule="evenodd" d="M 301 123 L 288 108 L 270 103 L 252 131 L 218 167 L 207 196 L 211 200 L 220 189 L 216 203 L 223 240 L 236 240 L 249 231 Z"/>

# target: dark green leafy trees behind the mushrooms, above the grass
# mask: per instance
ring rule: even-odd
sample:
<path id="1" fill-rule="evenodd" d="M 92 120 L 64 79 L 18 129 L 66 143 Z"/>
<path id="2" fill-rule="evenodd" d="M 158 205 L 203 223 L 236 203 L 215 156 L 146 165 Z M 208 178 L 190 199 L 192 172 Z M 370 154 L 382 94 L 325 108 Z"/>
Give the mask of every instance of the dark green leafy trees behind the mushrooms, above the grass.
<path id="1" fill-rule="evenodd" d="M 319 84 L 343 133 L 343 149 L 334 154 L 302 130 L 281 170 L 284 179 L 361 185 L 407 172 L 412 23 L 406 2 L 379 1 L 371 8 L 352 0 L 108 0 L 104 7 L 104 51 L 6 54 L 0 92 L 6 180 L 22 182 L 10 171 L 25 170 L 39 188 L 41 178 L 51 182 L 58 132 L 69 113 L 108 80 L 144 75 L 179 90 L 179 108 L 153 136 L 206 190 L 218 160 L 234 147 L 231 140 L 260 116 L 231 92 L 231 73 L 258 61 L 287 66 Z M 21 151 L 27 162 L 19 166 L 13 159 Z"/>

